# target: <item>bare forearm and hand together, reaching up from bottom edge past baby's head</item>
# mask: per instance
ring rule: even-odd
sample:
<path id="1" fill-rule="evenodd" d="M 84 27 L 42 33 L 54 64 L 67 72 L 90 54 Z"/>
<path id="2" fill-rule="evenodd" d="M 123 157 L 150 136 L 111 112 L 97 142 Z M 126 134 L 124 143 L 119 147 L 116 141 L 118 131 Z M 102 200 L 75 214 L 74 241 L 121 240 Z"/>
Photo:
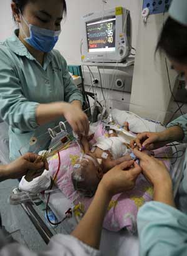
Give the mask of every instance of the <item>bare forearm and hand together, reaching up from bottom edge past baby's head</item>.
<path id="1" fill-rule="evenodd" d="M 135 181 L 140 173 L 141 168 L 134 161 L 124 161 L 105 173 L 98 184 L 97 192 L 89 209 L 72 232 L 72 235 L 90 245 L 90 247 L 98 249 L 103 219 L 112 196 L 131 190 L 135 186 Z"/>

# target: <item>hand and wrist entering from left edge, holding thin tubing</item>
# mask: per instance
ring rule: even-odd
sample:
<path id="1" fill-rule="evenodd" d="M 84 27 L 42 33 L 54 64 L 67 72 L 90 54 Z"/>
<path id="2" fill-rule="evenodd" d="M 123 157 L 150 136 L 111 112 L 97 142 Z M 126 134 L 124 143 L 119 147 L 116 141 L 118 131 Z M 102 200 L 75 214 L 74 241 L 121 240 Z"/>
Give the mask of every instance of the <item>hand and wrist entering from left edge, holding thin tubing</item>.
<path id="1" fill-rule="evenodd" d="M 37 160 L 37 163 L 34 163 Z M 49 169 L 47 161 L 41 161 L 41 156 L 34 153 L 27 153 L 8 165 L 1 167 L 3 180 L 8 178 L 21 178 L 29 170 L 40 170 L 41 168 Z"/>

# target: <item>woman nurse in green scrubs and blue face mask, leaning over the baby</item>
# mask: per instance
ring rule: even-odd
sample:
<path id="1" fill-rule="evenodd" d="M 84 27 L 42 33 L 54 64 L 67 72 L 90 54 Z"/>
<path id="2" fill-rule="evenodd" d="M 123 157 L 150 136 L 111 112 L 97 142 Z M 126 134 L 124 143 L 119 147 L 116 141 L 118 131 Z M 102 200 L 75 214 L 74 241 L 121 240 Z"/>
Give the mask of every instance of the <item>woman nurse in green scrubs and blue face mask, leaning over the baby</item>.
<path id="1" fill-rule="evenodd" d="M 60 120 L 65 118 L 75 132 L 85 134 L 89 121 L 67 63 L 54 50 L 65 0 L 12 0 L 11 8 L 18 29 L 0 43 L 0 115 L 9 125 L 14 160 L 21 148 L 22 153 L 32 151 L 34 141 L 35 148 L 47 148 L 47 128 Z"/>

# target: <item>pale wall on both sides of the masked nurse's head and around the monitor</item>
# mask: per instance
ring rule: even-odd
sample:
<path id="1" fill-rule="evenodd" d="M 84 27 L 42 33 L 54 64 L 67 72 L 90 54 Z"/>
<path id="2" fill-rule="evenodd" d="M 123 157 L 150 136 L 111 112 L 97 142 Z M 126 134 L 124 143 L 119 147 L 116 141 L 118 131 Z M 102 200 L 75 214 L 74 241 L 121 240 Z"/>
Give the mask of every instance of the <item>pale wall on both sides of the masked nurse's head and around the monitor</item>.
<path id="1" fill-rule="evenodd" d="M 82 16 L 92 11 L 101 11 L 102 0 L 67 0 L 67 17 L 62 24 L 62 34 L 56 48 L 63 54 L 69 64 L 80 64 L 80 40 L 82 39 Z M 107 0 L 105 8 L 123 6 L 132 15 L 132 45 L 137 42 L 140 0 Z M 11 0 L 0 0 L 0 40 L 12 34 L 14 21 L 11 14 Z"/>

